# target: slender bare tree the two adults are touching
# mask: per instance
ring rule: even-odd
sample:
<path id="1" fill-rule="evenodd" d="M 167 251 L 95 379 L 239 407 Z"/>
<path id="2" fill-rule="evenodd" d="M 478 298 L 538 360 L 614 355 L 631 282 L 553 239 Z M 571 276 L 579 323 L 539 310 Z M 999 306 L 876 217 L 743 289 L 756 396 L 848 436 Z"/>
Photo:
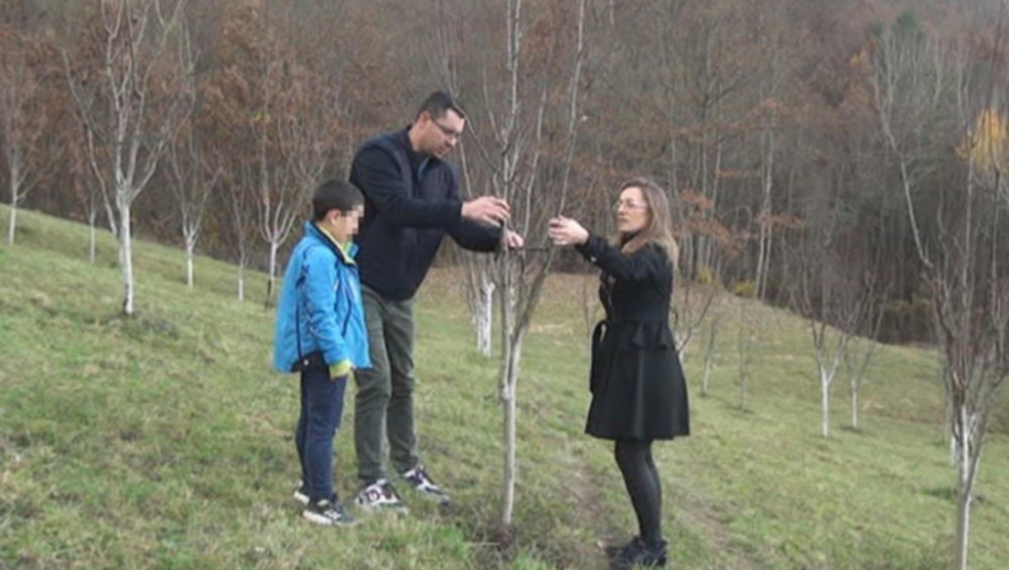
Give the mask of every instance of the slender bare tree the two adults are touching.
<path id="1" fill-rule="evenodd" d="M 502 110 L 495 111 L 490 86 L 486 80 L 484 84 L 488 130 L 493 142 L 484 143 L 478 137 L 475 140 L 481 143 L 484 164 L 491 172 L 490 180 L 495 193 L 511 204 L 512 223 L 515 230 L 525 236 L 526 243 L 545 244 L 547 220 L 557 212 L 564 211 L 567 204 L 572 155 L 579 123 L 578 88 L 585 56 L 585 0 L 578 2 L 577 13 L 572 18 L 576 31 L 570 50 L 571 63 L 564 64 L 558 63 L 557 60 L 561 50 L 554 51 L 552 47 L 545 47 L 544 43 L 547 42 L 541 37 L 537 38 L 535 34 L 532 39 L 540 40 L 538 52 L 523 52 L 531 43 L 531 39 L 525 37 L 523 2 L 509 0 L 506 16 Z M 566 21 L 563 13 L 551 15 Z M 553 38 L 559 39 L 557 36 Z M 532 58 L 541 59 L 544 68 L 539 71 L 539 80 L 534 84 L 535 90 L 524 90 L 522 86 L 525 79 L 535 75 L 521 67 Z M 561 141 L 557 148 L 560 174 L 549 179 L 547 186 L 540 179 L 544 168 L 540 161 L 547 144 L 544 135 L 545 123 L 548 119 L 548 101 L 550 96 L 554 94 L 550 81 L 551 66 L 558 66 L 557 71 L 564 71 L 569 76 L 567 85 L 559 93 L 559 97 L 566 99 L 566 105 L 563 115 L 558 119 L 559 127 L 554 132 Z M 527 104 L 531 101 L 529 92 L 538 99 L 534 106 Z M 491 143 L 493 151 L 486 148 Z M 536 251 L 545 253 L 539 261 L 533 258 Z M 501 522 L 506 528 L 511 524 L 515 499 L 516 403 L 522 346 L 554 254 L 555 250 L 549 248 L 528 248 L 502 256 L 495 271 L 501 305 L 500 395 L 504 408 Z"/>

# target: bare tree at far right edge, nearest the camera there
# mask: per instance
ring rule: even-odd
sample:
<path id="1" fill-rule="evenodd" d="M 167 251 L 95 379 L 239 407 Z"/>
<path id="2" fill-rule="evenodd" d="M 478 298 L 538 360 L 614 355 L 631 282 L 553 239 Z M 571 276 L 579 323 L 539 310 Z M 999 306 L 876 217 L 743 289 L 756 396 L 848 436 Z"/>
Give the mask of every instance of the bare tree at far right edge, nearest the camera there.
<path id="1" fill-rule="evenodd" d="M 880 126 L 899 168 L 944 357 L 956 452 L 958 570 L 968 568 L 970 509 L 988 419 L 1009 376 L 1009 271 L 1004 263 L 1009 229 L 1005 204 L 998 198 L 1006 161 L 999 142 L 1006 137 L 1006 107 L 996 97 L 1006 87 L 1005 17 L 1002 1 L 994 47 L 986 55 L 967 42 L 949 46 L 917 27 L 895 26 L 883 33 L 873 69 Z M 957 195 L 940 195 L 938 204 L 932 204 L 922 195 L 922 176 L 912 175 L 916 170 L 907 150 L 921 144 L 914 141 L 917 132 L 899 128 L 902 123 L 894 114 L 899 109 L 921 116 L 940 105 L 955 110 L 951 124 L 959 128 L 953 136 L 960 138 L 962 162 L 954 165 L 955 178 L 948 181 Z M 933 129 L 929 136 L 940 138 L 943 132 Z M 934 216 L 934 236 L 922 232 L 919 212 Z"/>

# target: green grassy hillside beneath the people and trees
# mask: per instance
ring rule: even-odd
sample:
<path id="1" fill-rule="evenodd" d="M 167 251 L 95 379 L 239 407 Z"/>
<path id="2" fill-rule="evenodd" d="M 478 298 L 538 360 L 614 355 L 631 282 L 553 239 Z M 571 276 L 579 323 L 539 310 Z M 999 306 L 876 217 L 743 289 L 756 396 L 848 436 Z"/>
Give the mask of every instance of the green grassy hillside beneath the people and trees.
<path id="1" fill-rule="evenodd" d="M 0 208 L 0 217 L 7 218 Z M 407 495 L 406 518 L 318 529 L 289 498 L 296 381 L 270 371 L 265 278 L 234 299 L 234 268 L 136 246 L 137 306 L 118 316 L 115 246 L 24 213 L 0 246 L 0 568 L 604 568 L 598 542 L 634 531 L 610 446 L 582 433 L 588 404 L 585 277 L 548 282 L 520 384 L 520 481 L 511 541 L 497 524 L 497 364 L 475 354 L 459 280 L 435 271 L 418 304 L 422 451 L 452 492 L 439 511 Z M 589 286 L 591 287 L 591 284 Z M 677 568 L 925 570 L 949 566 L 954 471 L 935 354 L 880 353 L 859 430 L 833 389 L 819 436 L 808 332 L 767 307 L 750 409 L 737 408 L 735 312 L 693 435 L 656 446 Z M 337 486 L 354 492 L 353 391 L 336 438 Z M 975 570 L 1009 559 L 1009 440 L 989 438 L 972 519 Z"/>

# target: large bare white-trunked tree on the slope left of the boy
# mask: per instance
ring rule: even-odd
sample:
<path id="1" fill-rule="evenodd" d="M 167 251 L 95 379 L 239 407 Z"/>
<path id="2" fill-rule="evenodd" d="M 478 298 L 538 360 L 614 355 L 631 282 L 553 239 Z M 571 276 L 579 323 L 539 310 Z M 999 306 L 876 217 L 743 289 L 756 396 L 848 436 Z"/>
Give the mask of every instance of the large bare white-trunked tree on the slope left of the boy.
<path id="1" fill-rule="evenodd" d="M 67 81 L 88 131 L 105 147 L 106 163 L 89 141 L 91 162 L 114 193 L 114 220 L 123 269 L 123 312 L 135 309 L 133 201 L 148 187 L 174 132 L 192 110 L 191 46 L 182 18 L 186 0 L 103 1 L 94 40 L 98 76 L 85 80 L 63 58 Z"/>

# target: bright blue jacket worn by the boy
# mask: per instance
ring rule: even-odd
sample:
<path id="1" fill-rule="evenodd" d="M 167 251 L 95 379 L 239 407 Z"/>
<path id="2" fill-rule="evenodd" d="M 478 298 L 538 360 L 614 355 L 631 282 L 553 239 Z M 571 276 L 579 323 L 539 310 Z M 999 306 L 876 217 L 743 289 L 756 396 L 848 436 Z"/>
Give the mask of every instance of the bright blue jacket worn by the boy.
<path id="1" fill-rule="evenodd" d="M 293 372 L 301 356 L 319 351 L 332 366 L 349 359 L 370 368 L 361 284 L 350 245 L 346 255 L 311 223 L 294 248 L 277 307 L 273 368 Z"/>

